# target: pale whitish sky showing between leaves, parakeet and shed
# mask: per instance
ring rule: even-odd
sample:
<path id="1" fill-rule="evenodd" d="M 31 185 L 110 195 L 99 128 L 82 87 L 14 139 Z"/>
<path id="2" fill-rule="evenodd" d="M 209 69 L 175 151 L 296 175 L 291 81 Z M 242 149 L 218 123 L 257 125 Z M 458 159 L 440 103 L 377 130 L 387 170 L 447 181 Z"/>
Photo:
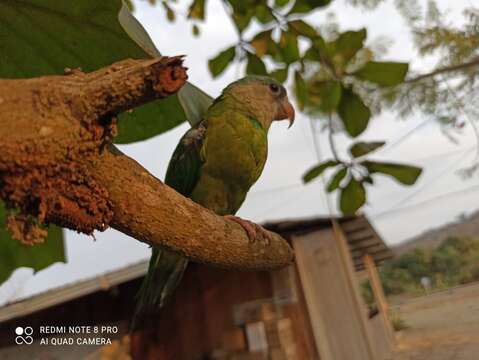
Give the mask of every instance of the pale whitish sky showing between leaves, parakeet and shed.
<path id="1" fill-rule="evenodd" d="M 191 24 L 181 16 L 186 13 L 188 3 L 179 1 L 180 16 L 173 24 L 166 21 L 161 6 L 152 7 L 144 0 L 135 2 L 135 16 L 163 54 L 187 55 L 190 81 L 217 96 L 228 83 L 242 76 L 242 68 L 230 66 L 221 77 L 212 79 L 207 60 L 233 44 L 236 32 L 220 1 L 211 0 L 208 2 L 207 22 L 200 25 L 201 36 L 194 38 Z M 368 39 L 388 37 L 391 46 L 384 59 L 407 61 L 413 70 L 427 71 L 433 59 L 419 59 L 404 22 L 391 3 L 386 1 L 375 11 L 362 11 L 343 0 L 335 0 L 328 10 L 337 14 L 342 31 L 366 26 Z M 470 1 L 442 0 L 439 5 L 448 12 L 448 19 L 460 21 L 462 9 L 469 6 Z M 320 26 L 324 24 L 327 13 L 316 12 L 308 20 Z M 304 172 L 318 163 L 311 124 L 305 115 L 297 113 L 291 129 L 287 129 L 286 122 L 272 126 L 268 162 L 241 207 L 240 216 L 263 222 L 337 214 L 337 199 L 335 196 L 330 198 L 333 208 L 329 209 L 320 180 L 307 185 L 301 182 Z M 188 125 L 183 124 L 166 134 L 123 145 L 120 149 L 163 179 L 171 153 L 187 129 Z M 320 159 L 330 158 L 327 134 L 314 131 L 314 136 Z M 475 158 L 476 139 L 469 124 L 457 138 L 458 144 L 452 143 L 437 124 L 426 121 L 424 117 L 400 119 L 391 112 L 375 117 L 361 135 L 360 140 L 386 140 L 390 144 L 375 153 L 372 159 L 407 162 L 424 168 L 414 186 L 404 187 L 392 179 L 376 177 L 374 187 L 368 189 L 368 203 L 363 211 L 387 244 L 397 244 L 477 210 L 477 179 L 464 180 L 457 173 L 471 165 Z M 335 143 L 339 152 L 344 153 L 350 142 L 345 135 L 337 134 Z M 113 229 L 96 232 L 95 238 L 66 231 L 67 264 L 54 264 L 35 275 L 30 269 L 18 269 L 0 286 L 0 305 L 146 260 L 150 254 L 148 246 Z"/>

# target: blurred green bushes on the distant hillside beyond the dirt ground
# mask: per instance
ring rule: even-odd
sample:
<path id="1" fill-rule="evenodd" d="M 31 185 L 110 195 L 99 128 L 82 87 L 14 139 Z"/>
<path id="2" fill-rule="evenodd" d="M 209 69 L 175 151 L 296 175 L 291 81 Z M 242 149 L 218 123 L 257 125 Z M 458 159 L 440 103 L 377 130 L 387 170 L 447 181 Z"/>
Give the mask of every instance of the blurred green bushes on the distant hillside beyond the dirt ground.
<path id="1" fill-rule="evenodd" d="M 431 290 L 479 280 L 479 239 L 449 237 L 436 248 L 416 248 L 385 263 L 380 277 L 386 295 L 419 295 L 425 292 L 421 278 L 428 277 Z M 366 302 L 374 298 L 368 281 L 361 284 Z"/>

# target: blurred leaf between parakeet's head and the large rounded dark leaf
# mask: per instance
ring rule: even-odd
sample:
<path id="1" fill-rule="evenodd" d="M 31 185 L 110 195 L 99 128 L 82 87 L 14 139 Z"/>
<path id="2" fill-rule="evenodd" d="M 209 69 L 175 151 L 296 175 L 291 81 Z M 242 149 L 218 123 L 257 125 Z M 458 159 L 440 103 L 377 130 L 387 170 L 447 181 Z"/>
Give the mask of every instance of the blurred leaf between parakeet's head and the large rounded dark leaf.
<path id="1" fill-rule="evenodd" d="M 336 111 L 341 101 L 341 91 L 341 84 L 334 80 L 313 82 L 308 86 L 308 106 L 326 114 Z"/>

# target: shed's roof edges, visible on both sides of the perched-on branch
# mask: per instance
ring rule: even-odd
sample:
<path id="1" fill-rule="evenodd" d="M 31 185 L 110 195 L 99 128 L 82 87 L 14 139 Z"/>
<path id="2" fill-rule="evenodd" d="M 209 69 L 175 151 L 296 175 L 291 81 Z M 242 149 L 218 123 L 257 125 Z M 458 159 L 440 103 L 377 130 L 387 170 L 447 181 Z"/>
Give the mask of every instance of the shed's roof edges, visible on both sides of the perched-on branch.
<path id="1" fill-rule="evenodd" d="M 364 216 L 341 217 L 335 220 L 346 236 L 356 270 L 364 268 L 362 256 L 365 254 L 371 255 L 376 264 L 381 264 L 384 260 L 393 256 Z M 287 239 L 291 238 L 293 234 L 308 233 L 331 226 L 331 218 L 285 220 L 264 224 L 265 228 L 277 232 Z M 30 298 L 7 304 L 0 308 L 0 322 L 25 316 L 99 290 L 107 290 L 112 286 L 145 275 L 147 268 L 148 261 L 142 261 L 92 279 L 51 289 Z"/>

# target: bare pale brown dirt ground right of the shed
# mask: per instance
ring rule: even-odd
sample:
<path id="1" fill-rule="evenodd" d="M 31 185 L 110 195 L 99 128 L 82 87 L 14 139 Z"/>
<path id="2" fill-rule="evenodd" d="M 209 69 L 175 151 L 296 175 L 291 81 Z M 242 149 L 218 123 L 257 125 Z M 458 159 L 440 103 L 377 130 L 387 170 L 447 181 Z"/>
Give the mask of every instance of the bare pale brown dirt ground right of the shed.
<path id="1" fill-rule="evenodd" d="M 479 283 L 393 305 L 409 326 L 391 360 L 478 360 Z"/>

